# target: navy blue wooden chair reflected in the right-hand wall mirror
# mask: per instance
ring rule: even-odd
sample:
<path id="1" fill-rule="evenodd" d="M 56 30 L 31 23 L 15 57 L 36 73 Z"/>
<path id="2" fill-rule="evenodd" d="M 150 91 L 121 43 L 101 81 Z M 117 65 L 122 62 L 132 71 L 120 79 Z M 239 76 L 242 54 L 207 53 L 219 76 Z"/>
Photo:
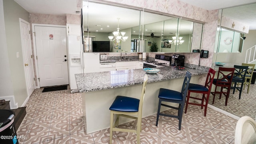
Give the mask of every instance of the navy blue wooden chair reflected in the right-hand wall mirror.
<path id="1" fill-rule="evenodd" d="M 242 94 L 242 90 L 243 90 L 243 86 L 244 86 L 245 75 L 246 75 L 246 72 L 248 70 L 248 66 L 234 65 L 234 68 L 235 68 L 235 71 L 234 71 L 234 76 L 233 76 L 233 79 L 232 79 L 231 89 L 233 89 L 233 94 L 235 93 L 235 90 L 239 91 L 239 99 L 240 99 L 241 94 Z M 228 76 L 228 79 L 230 79 L 230 78 L 231 77 Z M 241 85 L 241 86 L 239 87 L 239 85 Z"/>

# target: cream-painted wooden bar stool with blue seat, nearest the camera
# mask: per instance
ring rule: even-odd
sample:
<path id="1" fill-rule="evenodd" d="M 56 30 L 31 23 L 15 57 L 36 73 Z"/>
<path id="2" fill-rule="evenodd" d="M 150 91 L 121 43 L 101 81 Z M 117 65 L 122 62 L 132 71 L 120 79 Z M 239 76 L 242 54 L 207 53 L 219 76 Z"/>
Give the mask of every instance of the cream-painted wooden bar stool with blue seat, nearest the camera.
<path id="1" fill-rule="evenodd" d="M 110 106 L 110 141 L 112 144 L 112 134 L 113 131 L 119 132 L 135 132 L 137 133 L 137 144 L 140 144 L 140 131 L 141 131 L 141 120 L 142 120 L 142 104 L 145 96 L 146 84 L 148 82 L 148 76 L 144 76 L 144 82 L 142 85 L 140 99 L 130 98 L 126 96 L 116 96 L 116 99 Z M 114 122 L 114 114 L 117 114 L 116 122 Z M 130 116 L 136 115 L 137 117 Z M 133 118 L 137 120 L 137 130 L 129 130 L 116 128 L 118 127 L 119 116 L 124 116 L 126 118 Z"/>

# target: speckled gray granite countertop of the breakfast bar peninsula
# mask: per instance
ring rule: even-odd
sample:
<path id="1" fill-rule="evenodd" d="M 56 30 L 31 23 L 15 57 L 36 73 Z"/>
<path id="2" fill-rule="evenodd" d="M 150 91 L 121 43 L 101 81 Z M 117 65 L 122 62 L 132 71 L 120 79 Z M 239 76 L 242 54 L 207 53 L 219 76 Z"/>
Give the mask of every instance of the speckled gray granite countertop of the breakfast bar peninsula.
<path id="1" fill-rule="evenodd" d="M 144 74 L 148 76 L 148 83 L 150 83 L 185 77 L 186 71 L 191 72 L 192 76 L 208 73 L 208 71 L 205 70 L 190 68 L 185 68 L 184 70 L 175 70 L 172 66 L 163 66 L 158 69 L 160 69 L 160 72 L 156 74 L 147 74 L 143 69 L 136 69 L 75 74 L 75 77 L 78 91 L 90 92 L 142 84 Z"/>

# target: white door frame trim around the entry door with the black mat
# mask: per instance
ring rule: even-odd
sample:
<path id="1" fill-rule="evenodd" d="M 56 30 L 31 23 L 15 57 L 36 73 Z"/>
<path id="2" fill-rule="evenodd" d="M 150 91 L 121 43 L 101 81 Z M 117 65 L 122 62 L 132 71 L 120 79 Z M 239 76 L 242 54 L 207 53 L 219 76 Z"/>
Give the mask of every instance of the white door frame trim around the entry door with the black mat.
<path id="1" fill-rule="evenodd" d="M 37 61 L 37 52 L 36 52 L 35 26 L 48 26 L 48 27 L 59 27 L 59 28 L 67 28 L 67 26 L 55 25 L 55 24 L 32 24 L 33 50 L 34 50 L 35 70 L 36 70 L 35 76 L 36 76 L 36 82 L 37 82 L 36 88 L 40 88 L 40 82 L 38 79 L 39 72 L 38 72 L 38 61 Z M 67 36 L 67 32 L 66 32 L 66 36 Z"/>

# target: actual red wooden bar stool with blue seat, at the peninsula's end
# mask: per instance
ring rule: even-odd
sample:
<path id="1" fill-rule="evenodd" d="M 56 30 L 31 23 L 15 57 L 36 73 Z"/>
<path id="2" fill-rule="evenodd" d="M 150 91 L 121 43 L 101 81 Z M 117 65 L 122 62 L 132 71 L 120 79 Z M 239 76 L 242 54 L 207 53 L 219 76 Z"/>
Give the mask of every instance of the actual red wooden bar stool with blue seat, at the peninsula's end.
<path id="1" fill-rule="evenodd" d="M 204 116 L 206 116 L 206 110 L 207 110 L 207 106 L 208 106 L 208 101 L 209 101 L 209 97 L 210 97 L 210 92 L 211 92 L 212 82 L 213 82 L 213 79 L 214 79 L 215 72 L 216 71 L 214 69 L 212 69 L 212 68 L 209 69 L 209 72 L 207 74 L 207 78 L 206 78 L 204 86 L 200 85 L 200 84 L 191 84 L 191 83 L 189 84 L 189 86 L 188 86 L 188 97 L 187 97 L 187 100 L 186 100 L 185 114 L 186 114 L 187 109 L 188 109 L 188 104 L 192 104 L 192 105 L 201 106 L 201 109 L 203 109 L 203 107 L 205 107 L 204 108 Z M 203 94 L 203 96 L 202 96 L 202 98 L 192 97 L 192 96 L 190 96 L 191 92 L 200 93 L 200 94 Z M 205 96 L 205 95 L 207 95 L 207 96 Z M 201 104 L 189 102 L 190 98 L 193 98 L 193 99 L 196 99 L 196 100 L 201 100 Z M 204 100 L 205 100 L 205 104 L 204 104 Z"/>

